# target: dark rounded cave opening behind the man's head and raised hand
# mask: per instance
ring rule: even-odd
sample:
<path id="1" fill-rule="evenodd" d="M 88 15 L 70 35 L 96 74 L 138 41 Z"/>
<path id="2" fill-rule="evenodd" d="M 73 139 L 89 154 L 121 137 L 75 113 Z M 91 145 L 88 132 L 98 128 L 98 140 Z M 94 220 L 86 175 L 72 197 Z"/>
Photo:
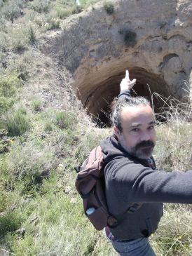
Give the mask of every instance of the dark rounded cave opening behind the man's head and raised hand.
<path id="1" fill-rule="evenodd" d="M 141 67 L 130 67 L 130 79 L 137 79 L 137 83 L 133 87 L 131 92 L 132 97 L 144 96 L 151 101 L 154 111 L 160 113 L 163 107 L 163 100 L 160 97 L 154 97 L 155 95 L 162 95 L 163 97 L 170 96 L 170 90 L 165 83 L 164 79 L 157 74 L 148 72 Z M 111 107 L 114 99 L 118 97 L 120 92 L 119 84 L 125 77 L 125 70 L 113 74 L 111 76 L 105 76 L 102 81 L 98 76 L 98 79 L 92 81 L 91 85 L 87 87 L 83 86 L 83 106 L 88 109 L 88 112 L 92 114 L 93 121 L 100 127 L 109 127 Z M 87 91 L 85 90 L 87 88 Z M 81 87 L 78 88 L 81 94 Z M 151 95 L 153 95 L 151 97 Z M 153 100 L 152 100 L 153 99 Z"/>

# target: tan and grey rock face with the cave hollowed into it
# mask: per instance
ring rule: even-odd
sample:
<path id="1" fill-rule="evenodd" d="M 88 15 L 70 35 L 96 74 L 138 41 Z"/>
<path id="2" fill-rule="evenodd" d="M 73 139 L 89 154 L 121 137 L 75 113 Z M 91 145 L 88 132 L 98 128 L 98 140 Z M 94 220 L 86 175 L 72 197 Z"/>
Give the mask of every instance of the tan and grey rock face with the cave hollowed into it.
<path id="1" fill-rule="evenodd" d="M 137 79 L 137 95 L 192 95 L 192 0 L 113 3 L 111 15 L 100 3 L 69 18 L 43 47 L 71 72 L 83 106 L 102 118 L 125 69 Z"/>

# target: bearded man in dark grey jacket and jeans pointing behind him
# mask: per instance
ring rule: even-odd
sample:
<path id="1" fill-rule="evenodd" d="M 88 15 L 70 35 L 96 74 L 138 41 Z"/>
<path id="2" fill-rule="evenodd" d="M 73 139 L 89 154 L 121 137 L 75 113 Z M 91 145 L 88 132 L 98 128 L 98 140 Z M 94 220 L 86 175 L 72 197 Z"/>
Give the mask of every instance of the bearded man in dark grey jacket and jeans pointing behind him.
<path id="1" fill-rule="evenodd" d="M 114 135 L 101 143 L 107 204 L 118 220 L 106 233 L 119 255 L 154 256 L 148 238 L 163 215 L 162 203 L 192 203 L 192 170 L 156 170 L 155 117 L 144 97 L 130 97 L 134 84 L 126 71 L 112 116 Z"/>

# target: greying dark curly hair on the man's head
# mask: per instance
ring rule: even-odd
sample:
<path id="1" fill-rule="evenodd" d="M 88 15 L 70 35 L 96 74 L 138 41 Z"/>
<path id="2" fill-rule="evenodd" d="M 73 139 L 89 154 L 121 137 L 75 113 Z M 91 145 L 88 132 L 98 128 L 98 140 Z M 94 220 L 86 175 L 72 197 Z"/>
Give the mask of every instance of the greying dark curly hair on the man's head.
<path id="1" fill-rule="evenodd" d="M 135 107 L 138 105 L 151 106 L 149 100 L 146 100 L 145 97 L 125 97 L 123 100 L 118 101 L 111 115 L 111 123 L 113 124 L 113 126 L 116 126 L 118 130 L 122 132 L 123 130 L 121 126 L 122 109 L 124 107 Z"/>

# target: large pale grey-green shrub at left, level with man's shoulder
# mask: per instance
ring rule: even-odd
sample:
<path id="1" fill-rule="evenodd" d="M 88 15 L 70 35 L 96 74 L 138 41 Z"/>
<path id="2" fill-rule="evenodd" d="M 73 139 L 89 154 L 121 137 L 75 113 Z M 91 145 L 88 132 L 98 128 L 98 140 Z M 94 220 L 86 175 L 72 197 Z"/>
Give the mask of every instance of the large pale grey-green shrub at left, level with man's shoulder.
<path id="1" fill-rule="evenodd" d="M 8 159 L 11 174 L 16 180 L 25 178 L 25 186 L 29 183 L 27 190 L 32 189 L 33 184 L 41 182 L 42 177 L 47 177 L 56 168 L 54 150 L 54 147 L 42 147 L 36 142 L 15 143 Z"/>

